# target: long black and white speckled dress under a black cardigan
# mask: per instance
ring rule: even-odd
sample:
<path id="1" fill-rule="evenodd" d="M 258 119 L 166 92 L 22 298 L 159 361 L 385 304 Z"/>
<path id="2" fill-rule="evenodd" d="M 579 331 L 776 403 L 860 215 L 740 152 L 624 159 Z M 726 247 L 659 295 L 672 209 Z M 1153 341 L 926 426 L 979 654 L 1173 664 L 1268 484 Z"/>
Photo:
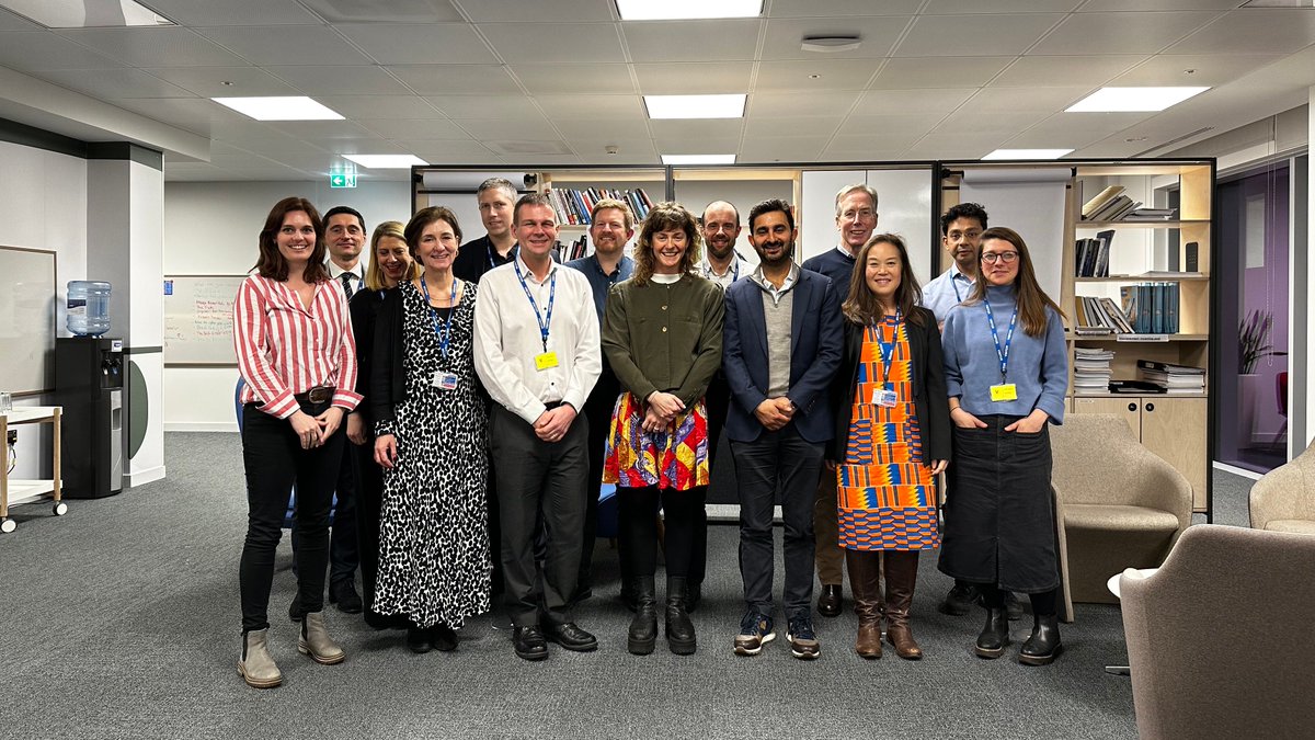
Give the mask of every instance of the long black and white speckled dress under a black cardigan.
<path id="1" fill-rule="evenodd" d="M 475 283 L 463 283 L 451 309 L 447 359 L 439 352 L 429 304 L 412 283 L 402 300 L 406 400 L 380 433 L 397 437 L 397 465 L 384 470 L 375 611 L 402 614 L 418 627 L 460 628 L 489 610 L 488 506 L 484 481 L 488 416 L 476 395 Z M 434 309 L 443 324 L 447 309 Z M 456 388 L 434 386 L 455 374 Z"/>

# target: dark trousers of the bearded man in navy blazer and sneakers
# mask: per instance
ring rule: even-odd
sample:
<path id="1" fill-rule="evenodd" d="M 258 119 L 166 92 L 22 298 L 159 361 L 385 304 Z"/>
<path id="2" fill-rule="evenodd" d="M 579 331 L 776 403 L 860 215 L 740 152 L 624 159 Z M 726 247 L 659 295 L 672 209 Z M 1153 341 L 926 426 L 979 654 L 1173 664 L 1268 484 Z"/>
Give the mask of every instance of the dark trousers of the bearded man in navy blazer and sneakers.
<path id="1" fill-rule="evenodd" d="M 823 445 L 805 440 L 794 424 L 751 442 L 731 440 L 740 499 L 740 577 L 744 602 L 772 614 L 772 506 L 785 520 L 785 614 L 807 616 L 813 599 L 813 496 Z"/>

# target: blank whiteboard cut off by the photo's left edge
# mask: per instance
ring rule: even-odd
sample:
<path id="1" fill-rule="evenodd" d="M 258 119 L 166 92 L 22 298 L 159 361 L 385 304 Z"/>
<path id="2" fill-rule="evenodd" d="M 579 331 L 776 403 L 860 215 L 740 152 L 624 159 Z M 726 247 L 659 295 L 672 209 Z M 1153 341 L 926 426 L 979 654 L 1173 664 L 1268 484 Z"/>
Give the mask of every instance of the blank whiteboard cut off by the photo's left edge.
<path id="1" fill-rule="evenodd" d="M 0 246 L 0 391 L 33 394 L 54 383 L 55 253 Z"/>

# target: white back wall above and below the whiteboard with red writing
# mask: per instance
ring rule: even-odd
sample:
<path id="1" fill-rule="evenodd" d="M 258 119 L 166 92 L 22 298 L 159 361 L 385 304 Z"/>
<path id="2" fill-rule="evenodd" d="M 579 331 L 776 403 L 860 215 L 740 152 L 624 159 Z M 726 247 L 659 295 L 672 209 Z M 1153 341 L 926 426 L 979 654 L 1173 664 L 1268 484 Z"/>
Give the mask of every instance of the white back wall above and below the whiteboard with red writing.
<path id="1" fill-rule="evenodd" d="M 256 237 L 279 200 L 299 195 L 320 208 L 350 205 L 373 229 L 410 219 L 410 183 L 362 182 L 334 190 L 327 182 L 164 183 L 164 275 L 241 275 L 256 261 Z M 473 201 L 473 196 L 471 198 Z M 467 238 L 481 236 L 479 219 Z M 368 244 L 367 249 L 368 251 Z M 166 358 L 167 359 L 167 358 Z M 164 366 L 166 431 L 237 431 L 235 367 Z"/>

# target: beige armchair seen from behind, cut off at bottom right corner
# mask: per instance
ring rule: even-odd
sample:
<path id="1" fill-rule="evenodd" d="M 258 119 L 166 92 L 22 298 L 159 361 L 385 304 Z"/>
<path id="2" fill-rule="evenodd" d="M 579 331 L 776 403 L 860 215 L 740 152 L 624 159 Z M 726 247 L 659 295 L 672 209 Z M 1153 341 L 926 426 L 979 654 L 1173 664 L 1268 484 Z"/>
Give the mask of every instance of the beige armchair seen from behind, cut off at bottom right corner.
<path id="1" fill-rule="evenodd" d="M 1141 740 L 1315 736 L 1315 537 L 1199 524 L 1124 573 Z"/>

